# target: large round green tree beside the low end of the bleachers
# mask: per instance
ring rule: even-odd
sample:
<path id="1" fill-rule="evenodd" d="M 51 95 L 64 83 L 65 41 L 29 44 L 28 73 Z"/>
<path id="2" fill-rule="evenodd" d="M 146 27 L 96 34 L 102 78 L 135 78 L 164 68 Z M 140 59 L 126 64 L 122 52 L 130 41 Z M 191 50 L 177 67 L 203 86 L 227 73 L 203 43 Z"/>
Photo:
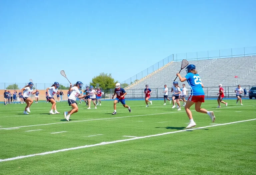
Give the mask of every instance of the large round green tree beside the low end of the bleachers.
<path id="1" fill-rule="evenodd" d="M 95 87 L 96 83 L 99 83 L 100 87 L 104 90 L 114 89 L 117 81 L 112 78 L 111 74 L 100 73 L 100 75 L 93 77 L 90 85 Z"/>

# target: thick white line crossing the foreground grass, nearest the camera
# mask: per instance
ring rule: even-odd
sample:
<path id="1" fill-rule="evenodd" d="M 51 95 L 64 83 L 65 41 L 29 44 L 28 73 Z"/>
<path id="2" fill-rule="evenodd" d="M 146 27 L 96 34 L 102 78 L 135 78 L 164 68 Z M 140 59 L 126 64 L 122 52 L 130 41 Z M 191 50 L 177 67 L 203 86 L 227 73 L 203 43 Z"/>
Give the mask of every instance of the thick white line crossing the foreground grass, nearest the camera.
<path id="1" fill-rule="evenodd" d="M 7 158 L 7 159 L 0 159 L 0 162 L 16 160 L 16 159 L 23 159 L 23 158 L 27 158 L 27 157 L 34 157 L 34 156 L 40 156 L 40 155 L 46 155 L 46 154 L 53 154 L 53 153 L 69 151 L 69 150 L 76 150 L 76 149 L 81 149 L 81 148 L 89 148 L 89 147 L 94 147 L 94 146 L 107 145 L 107 144 L 112 144 L 112 143 L 125 142 L 125 141 L 136 140 L 136 139 L 144 139 L 144 138 L 148 138 L 148 137 L 156 137 L 156 136 L 161 136 L 161 135 L 166 135 L 166 134 L 173 134 L 173 133 L 178 133 L 178 132 L 191 131 L 191 130 L 209 128 L 209 127 L 214 127 L 214 126 L 229 125 L 229 124 L 247 122 L 247 121 L 253 121 L 253 120 L 256 120 L 256 118 L 250 119 L 250 120 L 236 121 L 236 122 L 231 122 L 231 123 L 223 123 L 223 124 L 218 124 L 218 125 L 203 126 L 203 127 L 199 127 L 199 128 L 192 128 L 192 129 L 190 128 L 190 129 L 186 129 L 186 130 L 165 132 L 165 133 L 161 133 L 161 134 L 154 134 L 154 135 L 148 135 L 148 136 L 142 136 L 142 137 L 134 137 L 134 138 L 124 139 L 124 140 L 101 142 L 101 143 L 97 143 L 97 144 L 93 144 L 93 145 L 84 145 L 84 146 L 78 146 L 78 147 L 73 147 L 73 148 L 60 149 L 60 150 L 56 150 L 56 151 L 48 151 L 48 152 L 43 152 L 43 153 L 38 153 L 38 154 L 30 154 L 30 155 L 26 155 L 26 156 L 18 156 L 18 157 L 12 157 L 12 158 Z"/>

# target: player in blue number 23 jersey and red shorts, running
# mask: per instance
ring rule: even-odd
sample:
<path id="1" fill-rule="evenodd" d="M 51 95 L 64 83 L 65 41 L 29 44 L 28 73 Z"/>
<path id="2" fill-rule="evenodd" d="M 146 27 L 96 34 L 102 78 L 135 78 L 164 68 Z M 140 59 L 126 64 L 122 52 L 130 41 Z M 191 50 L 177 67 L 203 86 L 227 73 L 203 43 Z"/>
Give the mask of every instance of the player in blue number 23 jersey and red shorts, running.
<path id="1" fill-rule="evenodd" d="M 184 82 L 187 80 L 191 88 L 191 95 L 188 98 L 187 103 L 185 105 L 185 110 L 190 120 L 189 125 L 186 128 L 191 128 L 193 126 L 196 126 L 196 123 L 194 122 L 192 117 L 192 113 L 189 109 L 193 104 L 195 104 L 195 109 L 197 112 L 208 114 L 212 119 L 212 122 L 214 122 L 215 116 L 213 111 L 207 111 L 206 109 L 201 108 L 201 104 L 204 102 L 204 91 L 203 91 L 204 85 L 201 81 L 200 76 L 197 74 L 196 66 L 193 64 L 190 64 L 187 66 L 186 69 L 187 69 L 187 75 L 185 77 L 182 78 L 179 73 L 176 74 L 179 77 L 181 82 Z"/>

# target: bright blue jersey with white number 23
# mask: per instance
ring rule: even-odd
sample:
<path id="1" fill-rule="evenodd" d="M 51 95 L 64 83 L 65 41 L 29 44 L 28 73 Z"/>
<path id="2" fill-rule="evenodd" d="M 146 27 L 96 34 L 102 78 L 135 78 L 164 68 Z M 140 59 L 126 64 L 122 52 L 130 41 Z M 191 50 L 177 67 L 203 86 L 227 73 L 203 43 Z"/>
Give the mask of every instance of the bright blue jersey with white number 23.
<path id="1" fill-rule="evenodd" d="M 185 78 L 191 88 L 191 95 L 204 95 L 202 81 L 198 74 L 188 73 Z"/>

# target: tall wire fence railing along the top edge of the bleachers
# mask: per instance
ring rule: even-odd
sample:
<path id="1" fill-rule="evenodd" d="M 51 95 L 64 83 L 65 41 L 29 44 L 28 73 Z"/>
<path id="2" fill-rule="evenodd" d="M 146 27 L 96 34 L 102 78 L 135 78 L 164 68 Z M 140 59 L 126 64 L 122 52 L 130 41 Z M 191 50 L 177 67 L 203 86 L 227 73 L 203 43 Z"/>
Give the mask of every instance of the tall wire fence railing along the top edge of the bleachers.
<path id="1" fill-rule="evenodd" d="M 256 46 L 222 49 L 222 50 L 210 50 L 210 51 L 203 51 L 203 52 L 171 54 L 168 57 L 164 58 L 163 60 L 148 67 L 147 69 L 121 82 L 120 84 L 122 88 L 125 88 L 131 85 L 132 83 L 142 79 L 143 77 L 151 74 L 157 69 L 160 69 L 161 67 L 168 64 L 171 61 L 179 62 L 179 61 L 182 61 L 183 59 L 186 59 L 188 61 L 197 61 L 197 60 L 207 60 L 207 59 L 247 57 L 247 56 L 255 56 L 255 55 L 256 55 Z"/>

